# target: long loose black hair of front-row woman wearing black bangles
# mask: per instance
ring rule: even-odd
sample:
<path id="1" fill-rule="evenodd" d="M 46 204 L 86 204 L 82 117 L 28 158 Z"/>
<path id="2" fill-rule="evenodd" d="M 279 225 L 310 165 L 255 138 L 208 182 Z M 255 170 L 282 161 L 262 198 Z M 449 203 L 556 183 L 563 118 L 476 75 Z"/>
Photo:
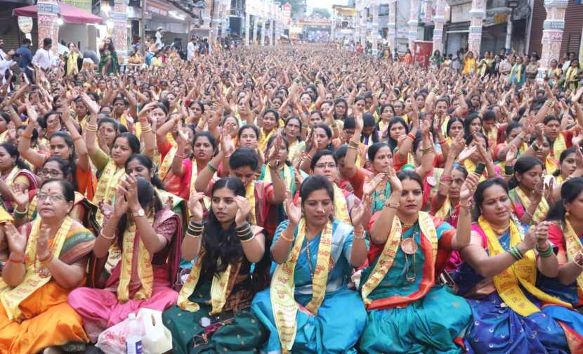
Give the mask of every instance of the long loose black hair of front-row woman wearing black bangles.
<path id="1" fill-rule="evenodd" d="M 245 187 L 238 178 L 225 177 L 216 181 L 211 190 L 211 197 L 216 190 L 227 188 L 234 195 L 245 197 Z M 264 231 L 265 232 L 265 231 Z M 266 236 L 266 243 L 269 237 Z M 216 218 L 211 207 L 207 218 L 204 220 L 204 231 L 202 234 L 202 277 L 212 279 L 219 273 L 224 272 L 228 265 L 235 264 L 244 258 L 243 247 L 235 230 L 235 221 L 232 222 L 228 230 L 224 230 L 221 223 Z M 266 244 L 266 250 L 268 244 Z M 270 267 L 269 252 L 266 251 L 261 261 L 256 263 L 254 274 L 251 276 L 249 290 L 262 289 L 269 282 L 268 269 Z"/>

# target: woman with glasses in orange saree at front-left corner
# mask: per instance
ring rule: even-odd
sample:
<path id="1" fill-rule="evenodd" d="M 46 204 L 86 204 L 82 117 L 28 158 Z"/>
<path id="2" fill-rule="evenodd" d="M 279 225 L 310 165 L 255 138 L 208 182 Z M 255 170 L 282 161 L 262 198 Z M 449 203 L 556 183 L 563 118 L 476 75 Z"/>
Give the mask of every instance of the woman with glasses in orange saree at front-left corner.
<path id="1" fill-rule="evenodd" d="M 39 217 L 22 233 L 11 223 L 4 225 L 11 254 L 0 280 L 1 353 L 39 353 L 89 341 L 67 296 L 85 282 L 95 237 L 69 216 L 71 183 L 48 179 L 37 199 Z"/>

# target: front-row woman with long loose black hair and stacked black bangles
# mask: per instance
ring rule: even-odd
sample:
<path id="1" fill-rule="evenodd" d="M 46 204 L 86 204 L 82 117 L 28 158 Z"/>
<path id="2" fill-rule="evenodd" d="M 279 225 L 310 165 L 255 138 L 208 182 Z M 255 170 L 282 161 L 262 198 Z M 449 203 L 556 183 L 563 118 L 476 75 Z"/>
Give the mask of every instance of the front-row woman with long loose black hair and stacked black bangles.
<path id="1" fill-rule="evenodd" d="M 269 237 L 247 221 L 251 205 L 239 179 L 214 183 L 206 219 L 203 197 L 190 196 L 192 218 L 182 255 L 195 263 L 178 306 L 162 315 L 164 325 L 172 332 L 175 353 L 253 353 L 268 338 L 249 306 L 269 284 Z"/>

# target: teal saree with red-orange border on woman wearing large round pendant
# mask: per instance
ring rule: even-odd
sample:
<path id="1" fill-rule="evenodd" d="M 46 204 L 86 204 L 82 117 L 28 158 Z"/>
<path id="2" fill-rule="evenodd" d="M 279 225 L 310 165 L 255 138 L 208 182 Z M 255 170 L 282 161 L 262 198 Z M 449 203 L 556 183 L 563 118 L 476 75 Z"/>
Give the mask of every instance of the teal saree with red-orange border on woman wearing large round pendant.
<path id="1" fill-rule="evenodd" d="M 437 258 L 447 259 L 455 230 L 448 223 L 435 225 L 435 229 L 438 236 Z M 468 303 L 454 295 L 449 287 L 435 285 L 435 269 L 439 266 L 432 265 L 435 261 L 431 263 L 431 242 L 421 234 L 419 224 L 404 231 L 402 237 L 414 237 L 419 245 L 414 255 L 417 264 L 414 267 L 415 280 L 407 280 L 407 259 L 402 249 L 398 248 L 393 265 L 368 296 L 372 303 L 368 306 L 368 322 L 360 339 L 360 351 L 461 353 L 461 347 L 454 341 L 461 337 L 460 332 L 469 324 L 471 311 Z M 384 247 L 384 244 L 376 247 Z M 373 255 L 376 259 L 371 260 L 373 248 L 369 252 L 370 266 L 362 271 L 361 287 L 379 261 L 378 255 Z M 412 267 L 413 261 L 408 259 L 408 264 Z M 461 338 L 458 342 L 461 343 Z"/>

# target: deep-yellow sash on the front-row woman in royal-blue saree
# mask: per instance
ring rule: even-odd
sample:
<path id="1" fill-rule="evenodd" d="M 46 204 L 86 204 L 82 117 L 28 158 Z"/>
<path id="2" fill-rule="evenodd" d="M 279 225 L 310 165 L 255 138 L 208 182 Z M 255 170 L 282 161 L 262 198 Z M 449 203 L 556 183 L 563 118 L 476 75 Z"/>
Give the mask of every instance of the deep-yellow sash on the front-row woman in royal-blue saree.
<path id="1" fill-rule="evenodd" d="M 500 245 L 498 237 L 494 234 L 494 230 L 487 221 L 485 221 L 483 216 L 478 218 L 478 225 L 483 230 L 487 237 L 487 247 L 490 256 L 497 256 L 505 252 L 504 248 Z M 522 242 L 522 235 L 520 235 L 520 230 L 518 230 L 518 225 L 510 222 L 510 245 L 509 247 L 515 247 L 520 242 Z M 535 296 L 540 301 L 546 303 L 553 303 L 559 306 L 565 306 L 572 308 L 569 303 L 565 303 L 557 299 L 554 296 L 546 294 L 544 291 L 538 289 L 535 286 L 537 280 L 537 259 L 535 257 L 535 251 L 527 251 L 523 259 L 516 261 L 509 268 L 506 268 L 502 273 L 494 275 L 493 277 L 494 285 L 502 301 L 506 303 L 512 310 L 514 310 L 518 315 L 528 316 L 532 313 L 537 313 L 540 309 L 526 297 L 522 289 L 518 286 L 520 285 L 526 289 L 532 296 Z"/>

